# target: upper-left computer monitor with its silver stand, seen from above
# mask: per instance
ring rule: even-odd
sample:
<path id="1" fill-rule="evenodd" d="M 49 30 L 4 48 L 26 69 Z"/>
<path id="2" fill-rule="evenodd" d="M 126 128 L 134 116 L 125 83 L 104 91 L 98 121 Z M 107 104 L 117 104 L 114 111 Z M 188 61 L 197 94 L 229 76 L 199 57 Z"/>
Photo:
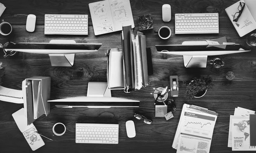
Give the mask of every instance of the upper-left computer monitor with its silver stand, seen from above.
<path id="1" fill-rule="evenodd" d="M 102 43 L 76 43 L 74 40 L 51 40 L 49 43 L 10 43 L 5 51 L 49 54 L 52 66 L 73 66 L 76 53 L 98 51 Z"/>

